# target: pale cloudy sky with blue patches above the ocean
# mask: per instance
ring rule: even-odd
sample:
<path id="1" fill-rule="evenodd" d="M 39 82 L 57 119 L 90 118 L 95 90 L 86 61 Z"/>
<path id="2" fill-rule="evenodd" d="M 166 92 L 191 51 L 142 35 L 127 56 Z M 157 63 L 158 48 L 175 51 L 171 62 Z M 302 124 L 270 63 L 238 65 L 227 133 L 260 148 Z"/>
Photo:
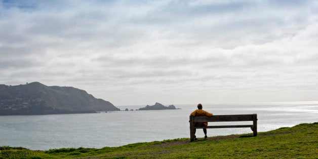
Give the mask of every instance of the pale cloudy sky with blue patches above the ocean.
<path id="1" fill-rule="evenodd" d="M 115 106 L 318 101 L 318 1 L 0 2 L 0 84 Z"/>

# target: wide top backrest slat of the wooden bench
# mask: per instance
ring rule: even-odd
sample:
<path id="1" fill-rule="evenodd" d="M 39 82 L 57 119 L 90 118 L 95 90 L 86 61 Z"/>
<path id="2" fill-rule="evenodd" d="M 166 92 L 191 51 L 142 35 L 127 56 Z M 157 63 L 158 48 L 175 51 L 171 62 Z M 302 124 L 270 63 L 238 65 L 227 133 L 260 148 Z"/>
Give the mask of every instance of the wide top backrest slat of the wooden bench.
<path id="1" fill-rule="evenodd" d="M 253 114 L 194 116 L 193 122 L 243 122 L 253 121 Z"/>

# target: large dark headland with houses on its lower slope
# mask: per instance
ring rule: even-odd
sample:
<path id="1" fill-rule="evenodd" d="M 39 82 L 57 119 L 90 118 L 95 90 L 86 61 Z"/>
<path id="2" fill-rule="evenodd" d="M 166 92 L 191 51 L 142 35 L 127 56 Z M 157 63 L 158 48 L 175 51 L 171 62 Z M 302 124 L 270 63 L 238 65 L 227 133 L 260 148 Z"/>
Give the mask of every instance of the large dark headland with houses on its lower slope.
<path id="1" fill-rule="evenodd" d="M 73 87 L 45 86 L 38 82 L 27 85 L 0 85 L 0 115 L 92 113 L 120 110 L 113 104 L 96 99 Z"/>

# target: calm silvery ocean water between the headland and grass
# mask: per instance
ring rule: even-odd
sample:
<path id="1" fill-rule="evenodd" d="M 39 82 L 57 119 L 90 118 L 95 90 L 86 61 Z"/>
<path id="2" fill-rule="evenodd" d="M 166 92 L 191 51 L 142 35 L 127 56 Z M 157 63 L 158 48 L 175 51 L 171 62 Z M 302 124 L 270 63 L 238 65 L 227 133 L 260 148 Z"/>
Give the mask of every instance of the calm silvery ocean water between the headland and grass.
<path id="1" fill-rule="evenodd" d="M 189 138 L 189 114 L 196 109 L 196 104 L 175 106 L 181 109 L 0 116 L 0 146 L 22 146 L 33 150 L 102 148 Z M 130 110 L 143 106 L 117 107 Z M 203 109 L 215 115 L 257 113 L 258 132 L 318 122 L 318 102 L 203 104 Z M 232 125 L 233 122 L 209 123 L 212 124 Z M 208 136 L 242 133 L 252 131 L 249 128 L 208 129 Z M 203 137 L 203 131 L 197 130 L 196 136 Z"/>

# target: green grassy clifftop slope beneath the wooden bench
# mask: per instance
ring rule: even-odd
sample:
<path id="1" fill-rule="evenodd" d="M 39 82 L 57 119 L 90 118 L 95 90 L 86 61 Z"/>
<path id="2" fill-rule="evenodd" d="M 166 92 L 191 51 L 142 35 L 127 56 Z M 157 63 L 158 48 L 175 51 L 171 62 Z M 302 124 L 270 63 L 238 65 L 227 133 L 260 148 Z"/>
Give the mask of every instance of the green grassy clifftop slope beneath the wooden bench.
<path id="1" fill-rule="evenodd" d="M 317 158 L 318 123 L 252 134 L 144 142 L 120 147 L 47 151 L 0 147 L 0 158 Z"/>

